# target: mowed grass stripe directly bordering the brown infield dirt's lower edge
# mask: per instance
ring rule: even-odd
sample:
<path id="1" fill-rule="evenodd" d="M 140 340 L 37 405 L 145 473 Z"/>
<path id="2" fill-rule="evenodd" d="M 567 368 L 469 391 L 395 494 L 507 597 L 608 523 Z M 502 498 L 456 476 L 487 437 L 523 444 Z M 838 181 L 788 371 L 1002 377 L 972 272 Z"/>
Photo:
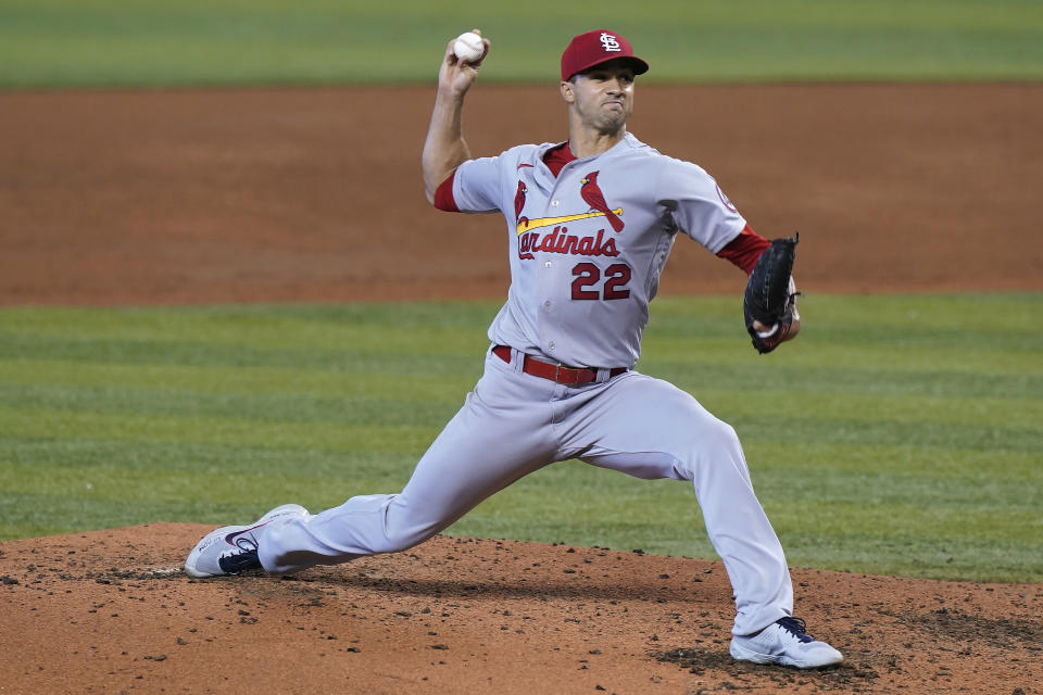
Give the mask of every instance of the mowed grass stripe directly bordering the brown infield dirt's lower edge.
<path id="1" fill-rule="evenodd" d="M 1034 334 L 1023 312 L 1038 309 L 1038 293 L 821 295 L 801 300 L 802 313 L 828 326 L 832 340 L 853 336 L 869 343 L 903 341 L 917 333 L 946 342 L 994 345 Z M 340 305 L 229 305 L 165 308 L 9 307 L 2 321 L 34 334 L 104 336 L 153 341 L 164 337 L 201 343 L 251 343 L 312 348 L 409 350 L 415 331 L 438 338 L 430 352 L 444 354 L 469 341 L 461 329 L 485 328 L 500 303 L 401 302 Z M 658 298 L 652 312 L 657 334 L 696 338 L 733 334 L 741 324 L 741 294 L 736 296 Z M 805 328 L 815 329 L 816 321 Z M 373 331 L 379 327 L 384 330 Z M 191 330 L 189 330 L 191 329 Z M 395 338 L 398 336 L 398 338 Z"/>

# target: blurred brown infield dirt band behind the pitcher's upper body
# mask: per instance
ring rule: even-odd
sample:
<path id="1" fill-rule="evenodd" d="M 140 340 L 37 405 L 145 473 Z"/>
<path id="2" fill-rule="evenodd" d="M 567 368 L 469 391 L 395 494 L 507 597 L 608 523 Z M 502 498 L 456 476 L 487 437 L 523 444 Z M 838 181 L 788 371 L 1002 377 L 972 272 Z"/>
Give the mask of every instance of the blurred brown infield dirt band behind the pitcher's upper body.
<path id="1" fill-rule="evenodd" d="M 478 85 L 475 155 L 557 141 L 556 90 Z M 427 205 L 432 91 L 0 93 L 0 302 L 503 298 L 503 220 Z M 1043 84 L 640 87 L 807 292 L 1043 289 Z M 741 273 L 680 240 L 665 292 Z M 654 311 L 654 305 L 653 305 Z"/>

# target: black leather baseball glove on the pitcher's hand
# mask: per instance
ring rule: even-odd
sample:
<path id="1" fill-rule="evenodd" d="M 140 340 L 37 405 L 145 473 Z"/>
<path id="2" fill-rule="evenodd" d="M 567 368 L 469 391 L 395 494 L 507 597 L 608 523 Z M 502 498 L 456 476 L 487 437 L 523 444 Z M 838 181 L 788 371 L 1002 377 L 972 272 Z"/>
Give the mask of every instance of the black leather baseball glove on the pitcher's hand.
<path id="1" fill-rule="evenodd" d="M 796 298 L 801 294 L 793 283 L 793 260 L 801 235 L 775 239 L 765 249 L 746 282 L 742 313 L 753 346 L 762 355 L 779 343 L 793 339 L 801 330 L 801 315 Z M 754 326 L 758 321 L 766 330 Z"/>

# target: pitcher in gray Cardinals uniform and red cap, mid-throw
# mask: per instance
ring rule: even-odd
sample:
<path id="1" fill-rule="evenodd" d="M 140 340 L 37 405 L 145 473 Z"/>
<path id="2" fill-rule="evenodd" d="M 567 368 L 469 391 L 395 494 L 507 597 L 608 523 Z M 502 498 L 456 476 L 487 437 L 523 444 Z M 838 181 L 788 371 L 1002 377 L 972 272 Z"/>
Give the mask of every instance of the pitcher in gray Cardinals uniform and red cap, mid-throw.
<path id="1" fill-rule="evenodd" d="M 423 172 L 437 208 L 506 220 L 511 287 L 489 327 L 483 376 L 402 492 L 355 496 L 314 516 L 284 505 L 253 525 L 217 529 L 192 549 L 186 571 L 284 573 L 404 551 L 523 476 L 577 458 L 694 485 L 734 591 L 733 658 L 840 662 L 792 616 L 786 557 L 734 430 L 688 393 L 633 369 L 649 302 L 679 235 L 747 273 L 772 243 L 750 229 L 706 172 L 627 131 L 634 77 L 649 65 L 607 29 L 576 36 L 562 55 L 566 141 L 472 159 L 461 122 L 488 56 L 482 41 L 486 53 L 474 64 L 457 60 L 452 42 L 447 48 Z M 775 325 L 751 326 L 758 350 L 770 350 L 800 323 L 792 311 Z"/>

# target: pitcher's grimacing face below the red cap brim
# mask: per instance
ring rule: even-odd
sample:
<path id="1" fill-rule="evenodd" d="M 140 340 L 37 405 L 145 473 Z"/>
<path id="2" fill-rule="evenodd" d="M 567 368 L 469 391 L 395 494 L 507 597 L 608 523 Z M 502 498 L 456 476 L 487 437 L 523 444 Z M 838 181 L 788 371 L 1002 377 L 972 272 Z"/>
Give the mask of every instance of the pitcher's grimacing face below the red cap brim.
<path id="1" fill-rule="evenodd" d="M 617 132 L 633 113 L 633 70 L 626 61 L 602 63 L 562 83 L 562 96 L 585 125 Z"/>

